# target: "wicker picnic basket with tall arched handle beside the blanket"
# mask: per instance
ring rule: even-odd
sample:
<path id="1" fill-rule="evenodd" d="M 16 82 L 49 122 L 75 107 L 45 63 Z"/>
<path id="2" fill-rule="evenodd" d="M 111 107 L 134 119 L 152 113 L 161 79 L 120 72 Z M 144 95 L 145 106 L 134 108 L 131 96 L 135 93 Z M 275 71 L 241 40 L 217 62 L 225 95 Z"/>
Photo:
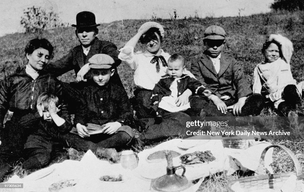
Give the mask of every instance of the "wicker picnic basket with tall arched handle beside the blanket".
<path id="1" fill-rule="evenodd" d="M 264 149 L 261 155 L 260 159 L 260 165 L 255 171 L 256 174 L 259 176 L 252 176 L 252 177 L 245 177 L 237 180 L 232 180 L 227 184 L 228 191 L 235 192 L 231 187 L 236 182 L 240 183 L 240 190 L 244 192 L 251 192 L 251 191 L 266 191 L 269 189 L 273 189 L 275 191 L 281 191 L 281 187 L 285 183 L 285 181 L 294 173 L 274 173 L 274 174 L 266 174 L 266 169 L 264 167 L 264 157 L 267 152 L 267 150 L 271 147 L 279 147 L 285 150 L 288 155 L 292 158 L 293 163 L 295 164 L 295 172 L 296 172 L 296 187 L 294 192 L 300 192 L 301 191 L 301 182 L 302 182 L 302 168 L 298 161 L 298 159 L 295 157 L 295 155 L 292 153 L 291 150 L 289 150 L 287 147 L 283 145 L 271 145 Z M 264 174 L 264 175 L 261 175 Z"/>

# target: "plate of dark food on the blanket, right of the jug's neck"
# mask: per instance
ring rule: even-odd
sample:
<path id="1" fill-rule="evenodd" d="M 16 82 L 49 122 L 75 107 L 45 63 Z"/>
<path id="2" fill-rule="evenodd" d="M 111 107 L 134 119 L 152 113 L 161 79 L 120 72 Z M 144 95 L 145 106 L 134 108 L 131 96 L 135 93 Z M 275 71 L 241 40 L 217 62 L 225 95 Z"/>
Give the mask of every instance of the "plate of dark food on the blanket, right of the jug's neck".
<path id="1" fill-rule="evenodd" d="M 186 153 L 184 155 L 181 155 L 180 159 L 182 165 L 192 167 L 196 164 L 210 163 L 216 160 L 210 150 Z"/>

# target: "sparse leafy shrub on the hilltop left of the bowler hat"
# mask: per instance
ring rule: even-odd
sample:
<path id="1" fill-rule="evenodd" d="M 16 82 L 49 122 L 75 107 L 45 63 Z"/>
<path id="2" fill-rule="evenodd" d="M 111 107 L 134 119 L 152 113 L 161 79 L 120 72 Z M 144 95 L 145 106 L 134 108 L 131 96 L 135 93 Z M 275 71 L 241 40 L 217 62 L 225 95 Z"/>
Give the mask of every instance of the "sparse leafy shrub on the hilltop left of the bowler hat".
<path id="1" fill-rule="evenodd" d="M 64 27 L 59 16 L 54 11 L 46 12 L 41 7 L 29 7 L 24 9 L 24 15 L 21 17 L 20 24 L 25 28 L 25 32 L 41 32 L 46 29 Z"/>

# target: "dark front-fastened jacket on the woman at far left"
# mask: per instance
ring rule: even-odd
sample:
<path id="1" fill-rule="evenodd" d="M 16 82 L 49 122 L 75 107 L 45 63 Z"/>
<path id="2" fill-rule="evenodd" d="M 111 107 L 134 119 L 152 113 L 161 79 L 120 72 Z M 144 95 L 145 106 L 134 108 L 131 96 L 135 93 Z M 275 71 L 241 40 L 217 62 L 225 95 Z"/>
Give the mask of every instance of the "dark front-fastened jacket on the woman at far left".
<path id="1" fill-rule="evenodd" d="M 43 92 L 52 92 L 61 99 L 59 81 L 47 73 L 41 72 L 33 80 L 25 69 L 16 71 L 0 82 L 0 130 L 8 110 L 14 112 L 11 120 L 18 124 L 26 124 L 32 120 L 40 120 L 36 109 L 38 96 Z M 65 108 L 66 106 L 62 106 Z"/>

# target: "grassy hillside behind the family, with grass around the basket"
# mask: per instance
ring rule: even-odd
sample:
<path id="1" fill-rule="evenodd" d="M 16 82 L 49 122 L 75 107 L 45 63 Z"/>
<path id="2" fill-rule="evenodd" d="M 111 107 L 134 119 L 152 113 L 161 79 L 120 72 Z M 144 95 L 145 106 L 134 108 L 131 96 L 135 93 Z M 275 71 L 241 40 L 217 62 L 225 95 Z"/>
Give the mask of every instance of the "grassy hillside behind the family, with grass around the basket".
<path id="1" fill-rule="evenodd" d="M 123 20 L 102 24 L 99 26 L 98 38 L 115 43 L 118 48 L 135 35 L 141 24 L 148 20 Z M 220 25 L 227 32 L 226 47 L 224 52 L 233 56 L 244 65 L 247 78 L 252 82 L 253 69 L 264 57 L 261 54 L 262 44 L 267 35 L 280 33 L 293 42 L 294 55 L 291 60 L 292 73 L 299 82 L 304 80 L 304 12 L 295 13 L 267 13 L 252 15 L 248 17 L 227 18 L 189 18 L 180 20 L 156 19 L 165 29 L 163 49 L 171 54 L 179 52 L 186 57 L 186 65 L 189 69 L 191 62 L 202 54 L 203 32 L 209 25 Z M 42 34 L 12 34 L 0 37 L 0 79 L 11 74 L 19 66 L 26 64 L 24 46 L 36 36 L 47 38 L 55 46 L 53 61 L 61 58 L 72 47 L 78 45 L 74 32 L 75 28 L 60 28 L 43 32 Z M 136 47 L 140 50 L 140 44 Z M 118 68 L 119 75 L 123 81 L 129 96 L 133 94 L 133 71 L 127 66 Z M 65 82 L 74 81 L 74 71 L 60 76 Z M 264 111 L 265 113 L 265 111 Z M 273 113 L 267 112 L 267 115 Z M 273 141 L 279 143 L 279 141 Z M 283 144 L 292 149 L 301 164 L 304 164 L 304 152 L 302 142 L 283 141 Z M 286 154 L 275 153 L 274 166 L 277 172 L 292 171 L 292 162 Z M 226 182 L 237 176 L 225 176 L 219 174 L 207 179 L 199 191 L 226 191 Z"/>

